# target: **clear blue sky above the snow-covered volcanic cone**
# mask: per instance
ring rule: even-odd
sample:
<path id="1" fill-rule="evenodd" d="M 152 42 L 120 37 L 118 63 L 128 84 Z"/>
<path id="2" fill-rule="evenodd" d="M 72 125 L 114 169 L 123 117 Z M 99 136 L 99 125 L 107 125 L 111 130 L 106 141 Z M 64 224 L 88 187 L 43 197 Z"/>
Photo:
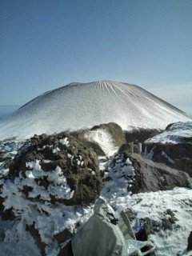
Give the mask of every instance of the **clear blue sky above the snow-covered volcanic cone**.
<path id="1" fill-rule="evenodd" d="M 113 79 L 192 114 L 191 0 L 0 0 L 0 19 L 0 105 Z"/>

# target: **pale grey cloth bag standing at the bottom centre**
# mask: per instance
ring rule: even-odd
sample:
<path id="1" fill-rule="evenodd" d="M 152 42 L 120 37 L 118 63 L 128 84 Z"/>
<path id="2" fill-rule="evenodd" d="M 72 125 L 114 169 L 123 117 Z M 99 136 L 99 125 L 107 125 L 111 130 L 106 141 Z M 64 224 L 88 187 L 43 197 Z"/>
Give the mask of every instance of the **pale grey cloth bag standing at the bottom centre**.
<path id="1" fill-rule="evenodd" d="M 111 223 L 113 218 L 106 202 L 99 198 L 94 206 L 94 215 L 71 240 L 74 256 L 127 256 L 125 238 L 119 226 Z M 127 231 L 129 220 L 126 215 L 121 215 L 119 221 L 126 239 L 128 236 L 133 239 L 133 234 Z"/>

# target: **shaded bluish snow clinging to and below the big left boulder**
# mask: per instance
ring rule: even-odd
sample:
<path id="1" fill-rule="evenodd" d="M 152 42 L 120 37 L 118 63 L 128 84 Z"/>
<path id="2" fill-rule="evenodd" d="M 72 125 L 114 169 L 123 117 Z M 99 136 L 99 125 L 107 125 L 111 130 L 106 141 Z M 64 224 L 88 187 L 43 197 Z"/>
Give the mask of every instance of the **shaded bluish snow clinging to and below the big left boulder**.
<path id="1" fill-rule="evenodd" d="M 62 203 L 55 205 L 50 202 L 50 194 L 55 198 L 70 199 L 74 191 L 70 190 L 63 176 L 61 168 L 57 167 L 53 171 L 46 172 L 41 169 L 39 161 L 28 162 L 30 169 L 26 170 L 23 177 L 20 172 L 19 177 L 14 180 L 1 179 L 1 196 L 5 198 L 3 203 L 6 209 L 13 207 L 15 216 L 18 218 L 12 222 L 4 222 L 0 219 L 1 232 L 4 231 L 4 240 L 0 238 L 1 253 L 3 255 L 38 256 L 41 255 L 37 246 L 34 245 L 34 238 L 30 232 L 26 231 L 26 225 L 35 223 L 35 228 L 41 236 L 42 242 L 46 243 L 46 255 L 58 255 L 58 242 L 54 240 L 54 234 L 58 234 L 66 228 L 74 233 L 76 225 L 80 226 L 93 214 L 91 206 L 65 206 Z M 50 182 L 45 189 L 34 182 L 34 179 L 46 177 Z M 43 201 L 29 200 L 22 193 L 23 186 L 32 188 L 28 193 L 28 198 L 39 196 Z M 15 252 L 15 250 L 18 250 Z"/>

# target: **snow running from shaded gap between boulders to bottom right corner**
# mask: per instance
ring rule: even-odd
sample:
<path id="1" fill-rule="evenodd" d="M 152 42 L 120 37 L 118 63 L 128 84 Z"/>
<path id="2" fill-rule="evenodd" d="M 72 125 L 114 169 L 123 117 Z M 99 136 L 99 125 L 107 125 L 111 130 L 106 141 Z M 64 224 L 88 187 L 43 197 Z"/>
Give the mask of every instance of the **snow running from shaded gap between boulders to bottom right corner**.
<path id="1" fill-rule="evenodd" d="M 121 156 L 119 158 L 121 160 Z M 120 166 L 121 162 L 119 161 L 114 167 L 109 168 L 111 162 L 112 159 L 105 163 L 109 170 L 106 176 L 110 174 L 112 180 L 106 182 L 102 189 L 102 198 L 105 198 L 106 202 L 116 209 L 135 211 L 137 217 L 132 222 L 135 232 L 142 227 L 139 222 L 141 218 L 150 218 L 159 223 L 158 232 L 150 234 L 150 240 L 156 247 L 155 255 L 182 255 L 186 250 L 187 238 L 192 230 L 192 190 L 174 188 L 174 190 L 132 195 L 127 191 L 127 186 L 131 186 L 131 179 L 122 177 L 126 168 L 128 177 L 134 178 L 134 169 L 130 160 L 128 158 L 126 160 L 128 166 Z M 163 230 L 161 226 L 162 218 L 169 217 L 165 214 L 168 209 L 172 210 L 175 218 L 178 219 L 173 230 Z"/>

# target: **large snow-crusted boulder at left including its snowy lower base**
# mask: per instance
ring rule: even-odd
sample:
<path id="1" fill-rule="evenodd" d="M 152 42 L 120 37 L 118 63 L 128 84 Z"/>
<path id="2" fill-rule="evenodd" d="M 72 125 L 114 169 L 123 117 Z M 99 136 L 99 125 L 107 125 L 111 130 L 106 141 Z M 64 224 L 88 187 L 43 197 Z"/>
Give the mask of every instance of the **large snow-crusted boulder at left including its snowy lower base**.
<path id="1" fill-rule="evenodd" d="M 0 189 L 0 216 L 14 223 L 10 233 L 28 232 L 46 255 L 73 236 L 84 209 L 99 197 L 97 154 L 70 134 L 35 135 L 18 150 Z M 74 218 L 70 228 L 68 218 Z"/>

